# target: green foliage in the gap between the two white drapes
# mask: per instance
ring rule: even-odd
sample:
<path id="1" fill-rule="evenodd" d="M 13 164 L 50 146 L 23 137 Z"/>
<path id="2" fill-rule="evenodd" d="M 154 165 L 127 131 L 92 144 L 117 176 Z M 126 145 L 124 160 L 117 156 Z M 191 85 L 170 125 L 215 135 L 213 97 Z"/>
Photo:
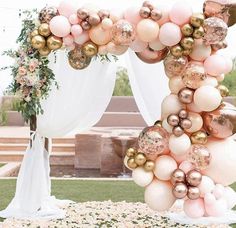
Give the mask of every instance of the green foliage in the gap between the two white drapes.
<path id="1" fill-rule="evenodd" d="M 128 72 L 125 68 L 119 68 L 117 71 L 116 85 L 113 96 L 133 96 L 129 83 Z"/>

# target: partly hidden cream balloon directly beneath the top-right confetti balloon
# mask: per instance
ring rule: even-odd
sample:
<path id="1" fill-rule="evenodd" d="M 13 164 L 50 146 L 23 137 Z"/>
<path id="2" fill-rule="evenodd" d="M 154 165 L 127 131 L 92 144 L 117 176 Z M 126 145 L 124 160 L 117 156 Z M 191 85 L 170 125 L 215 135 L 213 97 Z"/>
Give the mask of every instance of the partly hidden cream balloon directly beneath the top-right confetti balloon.
<path id="1" fill-rule="evenodd" d="M 195 40 L 193 51 L 190 54 L 191 59 L 196 61 L 204 61 L 211 55 L 211 46 L 204 44 L 202 40 Z"/>

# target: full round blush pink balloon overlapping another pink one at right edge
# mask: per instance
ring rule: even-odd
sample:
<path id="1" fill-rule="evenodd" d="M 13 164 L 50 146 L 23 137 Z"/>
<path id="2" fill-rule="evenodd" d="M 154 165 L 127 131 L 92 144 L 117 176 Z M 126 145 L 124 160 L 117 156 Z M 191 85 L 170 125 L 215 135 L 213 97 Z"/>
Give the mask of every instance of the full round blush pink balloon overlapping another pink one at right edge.
<path id="1" fill-rule="evenodd" d="M 204 62 L 205 71 L 212 76 L 219 76 L 225 72 L 226 62 L 220 55 L 209 56 Z"/>

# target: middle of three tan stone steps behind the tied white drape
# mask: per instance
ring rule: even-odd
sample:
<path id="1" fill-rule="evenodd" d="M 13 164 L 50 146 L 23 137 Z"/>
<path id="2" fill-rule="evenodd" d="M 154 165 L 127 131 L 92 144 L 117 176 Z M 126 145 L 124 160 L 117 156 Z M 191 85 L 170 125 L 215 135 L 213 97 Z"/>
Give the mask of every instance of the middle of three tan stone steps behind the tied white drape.
<path id="1" fill-rule="evenodd" d="M 4 144 L 0 143 L 0 151 L 25 151 L 27 144 Z M 75 152 L 74 144 L 53 144 L 53 152 Z"/>

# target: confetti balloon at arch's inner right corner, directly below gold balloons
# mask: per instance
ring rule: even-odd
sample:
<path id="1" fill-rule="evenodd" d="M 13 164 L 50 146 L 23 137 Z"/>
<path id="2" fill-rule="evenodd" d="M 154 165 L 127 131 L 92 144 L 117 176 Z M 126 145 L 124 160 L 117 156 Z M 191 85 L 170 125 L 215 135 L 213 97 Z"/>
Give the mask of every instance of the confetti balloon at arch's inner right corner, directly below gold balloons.
<path id="1" fill-rule="evenodd" d="M 169 77 L 181 75 L 188 65 L 188 58 L 182 56 L 180 58 L 168 55 L 164 59 L 165 72 Z"/>

